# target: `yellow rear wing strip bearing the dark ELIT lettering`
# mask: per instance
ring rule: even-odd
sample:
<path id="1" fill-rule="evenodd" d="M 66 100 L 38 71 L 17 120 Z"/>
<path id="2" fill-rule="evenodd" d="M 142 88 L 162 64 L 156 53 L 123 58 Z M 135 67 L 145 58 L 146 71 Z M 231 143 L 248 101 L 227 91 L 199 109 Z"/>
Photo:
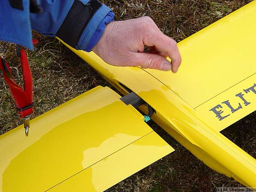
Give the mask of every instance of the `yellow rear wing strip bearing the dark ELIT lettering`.
<path id="1" fill-rule="evenodd" d="M 195 108 L 216 131 L 256 110 L 256 74 Z M 214 125 L 214 126 L 213 126 Z"/>

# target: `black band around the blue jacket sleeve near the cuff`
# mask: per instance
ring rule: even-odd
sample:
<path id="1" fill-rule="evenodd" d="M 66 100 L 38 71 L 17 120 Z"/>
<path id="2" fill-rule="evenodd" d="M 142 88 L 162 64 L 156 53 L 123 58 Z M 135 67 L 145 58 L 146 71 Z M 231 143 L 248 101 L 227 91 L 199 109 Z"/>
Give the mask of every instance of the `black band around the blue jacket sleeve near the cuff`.
<path id="1" fill-rule="evenodd" d="M 75 0 L 56 36 L 76 49 L 82 32 L 101 6 L 98 0 L 90 0 L 86 5 Z"/>

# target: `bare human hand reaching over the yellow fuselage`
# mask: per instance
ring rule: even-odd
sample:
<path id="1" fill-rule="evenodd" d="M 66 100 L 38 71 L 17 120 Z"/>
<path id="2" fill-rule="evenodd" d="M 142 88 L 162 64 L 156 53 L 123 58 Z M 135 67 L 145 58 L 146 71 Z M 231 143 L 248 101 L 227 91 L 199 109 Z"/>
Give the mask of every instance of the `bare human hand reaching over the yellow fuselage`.
<path id="1" fill-rule="evenodd" d="M 147 53 L 143 52 L 144 45 L 149 47 Z M 150 17 L 108 23 L 93 52 L 114 66 L 141 66 L 176 73 L 181 63 L 176 41 L 164 35 Z"/>

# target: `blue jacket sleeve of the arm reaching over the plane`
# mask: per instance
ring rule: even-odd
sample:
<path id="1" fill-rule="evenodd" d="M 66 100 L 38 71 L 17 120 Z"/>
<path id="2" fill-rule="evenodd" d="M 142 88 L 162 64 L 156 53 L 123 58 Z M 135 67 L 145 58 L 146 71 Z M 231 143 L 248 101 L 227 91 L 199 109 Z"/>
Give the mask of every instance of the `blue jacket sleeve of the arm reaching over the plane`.
<path id="1" fill-rule="evenodd" d="M 64 20 L 67 24 L 66 17 L 70 14 L 69 12 L 70 9 L 72 9 L 74 1 L 80 1 L 83 5 L 88 5 L 89 2 L 89 0 L 39 0 L 38 4 L 43 8 L 43 12 L 41 14 L 30 14 L 32 29 L 44 35 L 55 37 L 61 25 L 64 23 Z M 74 17 L 74 21 L 72 21 L 72 18 L 73 17 L 68 18 L 71 24 L 72 22 L 75 22 L 77 17 Z M 111 9 L 102 4 L 99 9 L 93 13 L 89 22 L 86 23 L 85 27 L 80 32 L 79 39 L 77 40 L 74 48 L 85 50 L 87 52 L 91 51 L 94 45 L 99 41 L 105 26 L 109 22 L 113 21 L 113 18 L 114 14 L 111 12 Z M 63 29 L 69 32 L 71 30 L 71 33 L 72 30 L 76 30 L 76 27 L 73 27 L 73 29 L 72 27 L 70 28 L 71 29 L 66 26 Z"/>

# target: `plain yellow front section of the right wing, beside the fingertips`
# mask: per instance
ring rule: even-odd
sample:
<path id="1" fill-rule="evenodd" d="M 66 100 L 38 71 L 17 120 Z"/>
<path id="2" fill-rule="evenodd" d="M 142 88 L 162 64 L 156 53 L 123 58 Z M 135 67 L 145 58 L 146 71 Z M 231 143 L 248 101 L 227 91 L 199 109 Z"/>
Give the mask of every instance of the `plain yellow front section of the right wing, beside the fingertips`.
<path id="1" fill-rule="evenodd" d="M 178 43 L 178 73 L 147 69 L 192 108 L 256 73 L 256 1 Z"/>

